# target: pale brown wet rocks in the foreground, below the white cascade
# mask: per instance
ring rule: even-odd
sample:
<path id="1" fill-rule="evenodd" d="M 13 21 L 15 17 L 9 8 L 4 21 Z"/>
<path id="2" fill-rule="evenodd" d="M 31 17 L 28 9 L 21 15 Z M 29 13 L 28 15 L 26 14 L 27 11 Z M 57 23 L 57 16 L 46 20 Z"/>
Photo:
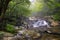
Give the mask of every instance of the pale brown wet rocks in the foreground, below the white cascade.
<path id="1" fill-rule="evenodd" d="M 14 39 L 35 39 L 39 38 L 41 35 L 40 33 L 34 31 L 34 30 L 20 30 L 17 35 L 14 37 Z"/>

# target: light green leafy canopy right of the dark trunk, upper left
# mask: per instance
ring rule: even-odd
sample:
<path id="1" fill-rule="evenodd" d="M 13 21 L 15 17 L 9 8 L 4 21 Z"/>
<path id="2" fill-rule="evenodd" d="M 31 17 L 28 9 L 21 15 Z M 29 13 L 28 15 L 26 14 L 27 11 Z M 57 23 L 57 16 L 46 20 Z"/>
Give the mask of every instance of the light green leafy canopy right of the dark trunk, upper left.
<path id="1" fill-rule="evenodd" d="M 8 6 L 9 8 L 7 9 L 6 13 L 14 16 L 20 15 L 27 16 L 27 14 L 30 13 L 29 5 L 30 5 L 29 0 L 12 0 L 9 3 Z"/>

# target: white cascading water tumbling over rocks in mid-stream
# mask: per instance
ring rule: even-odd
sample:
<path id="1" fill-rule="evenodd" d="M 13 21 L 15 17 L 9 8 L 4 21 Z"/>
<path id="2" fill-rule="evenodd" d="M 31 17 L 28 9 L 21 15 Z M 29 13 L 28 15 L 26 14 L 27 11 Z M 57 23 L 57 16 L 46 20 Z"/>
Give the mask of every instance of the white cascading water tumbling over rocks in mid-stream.
<path id="1" fill-rule="evenodd" d="M 48 22 L 45 20 L 38 20 L 33 25 L 33 28 L 39 29 L 40 31 L 47 31 L 50 26 L 48 25 Z"/>

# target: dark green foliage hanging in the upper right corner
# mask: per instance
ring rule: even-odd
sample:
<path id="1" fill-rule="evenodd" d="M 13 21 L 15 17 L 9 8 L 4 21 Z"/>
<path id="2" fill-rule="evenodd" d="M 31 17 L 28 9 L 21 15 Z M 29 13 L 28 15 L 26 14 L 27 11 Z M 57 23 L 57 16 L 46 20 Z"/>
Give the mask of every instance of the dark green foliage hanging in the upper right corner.
<path id="1" fill-rule="evenodd" d="M 48 13 L 53 15 L 53 19 L 60 20 L 60 0 L 46 0 L 47 6 L 49 7 Z"/>

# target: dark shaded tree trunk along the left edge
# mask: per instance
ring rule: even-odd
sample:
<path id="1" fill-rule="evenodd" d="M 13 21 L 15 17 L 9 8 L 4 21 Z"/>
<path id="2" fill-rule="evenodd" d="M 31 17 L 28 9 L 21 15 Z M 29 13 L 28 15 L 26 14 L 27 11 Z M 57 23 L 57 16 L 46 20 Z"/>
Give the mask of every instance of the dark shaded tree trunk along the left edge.
<path id="1" fill-rule="evenodd" d="M 6 21 L 4 19 L 5 12 L 11 0 L 0 0 L 0 30 L 5 28 Z"/>

